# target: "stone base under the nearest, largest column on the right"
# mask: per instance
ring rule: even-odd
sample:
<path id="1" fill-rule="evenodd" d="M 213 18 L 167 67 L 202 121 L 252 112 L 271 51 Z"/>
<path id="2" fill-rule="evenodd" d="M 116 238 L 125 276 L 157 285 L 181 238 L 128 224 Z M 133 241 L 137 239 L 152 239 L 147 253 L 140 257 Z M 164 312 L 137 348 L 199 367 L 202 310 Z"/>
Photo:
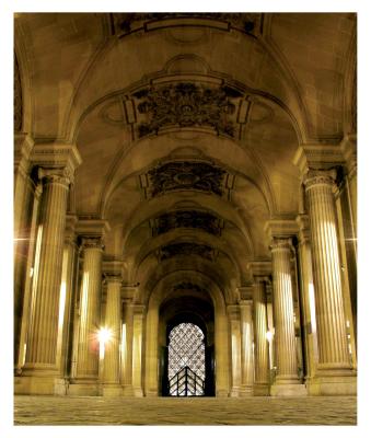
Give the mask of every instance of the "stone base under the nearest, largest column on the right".
<path id="1" fill-rule="evenodd" d="M 310 395 L 357 395 L 357 376 L 318 373 L 308 382 L 308 392 Z"/>

